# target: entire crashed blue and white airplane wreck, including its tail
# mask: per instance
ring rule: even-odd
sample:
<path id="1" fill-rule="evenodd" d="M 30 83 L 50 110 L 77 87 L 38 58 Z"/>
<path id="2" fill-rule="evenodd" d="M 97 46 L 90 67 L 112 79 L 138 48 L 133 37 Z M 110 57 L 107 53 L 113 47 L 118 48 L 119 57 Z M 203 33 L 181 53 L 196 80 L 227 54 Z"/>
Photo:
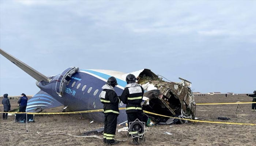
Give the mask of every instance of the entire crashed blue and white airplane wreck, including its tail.
<path id="1" fill-rule="evenodd" d="M 101 87 L 109 77 L 114 76 L 118 83 L 114 89 L 117 95 L 121 95 L 127 84 L 125 77 L 129 74 L 112 70 L 80 70 L 70 67 L 60 74 L 46 77 L 1 49 L 0 54 L 37 80 L 36 85 L 41 90 L 28 101 L 27 112 L 41 112 L 59 106 L 64 106 L 66 111 L 101 110 L 103 108 L 99 100 Z M 143 110 L 172 117 L 195 118 L 196 105 L 190 89 L 191 82 L 181 78 L 181 82 L 166 82 L 149 69 L 131 73 L 144 88 L 144 97 L 149 99 L 149 104 L 144 103 Z M 124 108 L 125 105 L 119 107 Z M 170 119 L 145 114 L 156 123 Z M 102 112 L 88 112 L 83 116 L 97 122 L 103 122 L 104 119 Z M 120 110 L 117 122 L 123 123 L 126 120 L 125 110 Z"/>

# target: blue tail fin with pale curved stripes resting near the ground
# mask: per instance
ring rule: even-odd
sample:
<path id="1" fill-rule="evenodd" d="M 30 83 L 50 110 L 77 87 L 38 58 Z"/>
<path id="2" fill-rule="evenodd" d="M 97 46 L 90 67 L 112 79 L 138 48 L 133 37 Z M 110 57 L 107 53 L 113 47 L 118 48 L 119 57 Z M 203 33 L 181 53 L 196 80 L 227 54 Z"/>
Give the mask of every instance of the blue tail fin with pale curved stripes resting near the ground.
<path id="1" fill-rule="evenodd" d="M 41 112 L 45 109 L 60 106 L 63 106 L 63 104 L 41 90 L 27 101 L 27 112 Z"/>

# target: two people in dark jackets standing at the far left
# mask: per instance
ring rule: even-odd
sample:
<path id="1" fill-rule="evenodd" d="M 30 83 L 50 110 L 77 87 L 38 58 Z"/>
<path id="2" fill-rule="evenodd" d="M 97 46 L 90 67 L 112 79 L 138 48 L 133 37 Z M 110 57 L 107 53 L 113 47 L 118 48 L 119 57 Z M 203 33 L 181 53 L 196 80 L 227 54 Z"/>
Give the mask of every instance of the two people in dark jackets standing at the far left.
<path id="1" fill-rule="evenodd" d="M 27 107 L 27 96 L 22 93 L 22 96 L 18 100 L 19 112 L 26 112 Z M 11 110 L 10 100 L 8 99 L 8 94 L 4 94 L 4 98 L 2 100 L 2 104 L 4 105 L 3 119 L 6 120 L 8 118 L 8 113 Z"/>

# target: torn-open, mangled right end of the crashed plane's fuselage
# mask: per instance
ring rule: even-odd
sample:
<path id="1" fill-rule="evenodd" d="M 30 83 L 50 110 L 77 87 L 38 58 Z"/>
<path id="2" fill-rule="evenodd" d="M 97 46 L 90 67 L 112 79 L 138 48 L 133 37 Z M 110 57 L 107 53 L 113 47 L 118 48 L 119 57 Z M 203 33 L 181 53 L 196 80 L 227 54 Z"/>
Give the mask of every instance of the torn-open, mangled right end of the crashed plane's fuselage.
<path id="1" fill-rule="evenodd" d="M 179 78 L 181 82 L 163 81 L 150 70 L 144 70 L 137 77 L 138 84 L 144 88 L 144 97 L 149 98 L 149 105 L 143 110 L 159 115 L 195 119 L 196 103 L 191 91 L 191 82 Z M 187 120 L 147 114 L 153 124 L 185 123 Z M 147 123 L 148 126 L 150 126 Z"/>

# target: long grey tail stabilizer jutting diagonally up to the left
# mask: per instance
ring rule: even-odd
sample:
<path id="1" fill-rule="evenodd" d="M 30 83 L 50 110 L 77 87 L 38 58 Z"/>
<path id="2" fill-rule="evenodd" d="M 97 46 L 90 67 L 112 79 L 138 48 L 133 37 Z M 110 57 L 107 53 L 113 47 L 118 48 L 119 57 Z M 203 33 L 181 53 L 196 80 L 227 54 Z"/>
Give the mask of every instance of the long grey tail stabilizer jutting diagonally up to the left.
<path id="1" fill-rule="evenodd" d="M 14 63 L 16 66 L 18 66 L 20 69 L 22 69 L 24 72 L 29 74 L 31 77 L 33 77 L 38 82 L 40 82 L 40 81 L 50 82 L 51 81 L 51 79 L 46 77 L 44 74 L 39 73 L 37 70 L 31 68 L 29 65 L 25 64 L 24 62 L 20 61 L 19 59 L 8 54 L 1 48 L 0 48 L 0 54 L 2 54 L 5 58 L 10 60 L 12 63 Z"/>

